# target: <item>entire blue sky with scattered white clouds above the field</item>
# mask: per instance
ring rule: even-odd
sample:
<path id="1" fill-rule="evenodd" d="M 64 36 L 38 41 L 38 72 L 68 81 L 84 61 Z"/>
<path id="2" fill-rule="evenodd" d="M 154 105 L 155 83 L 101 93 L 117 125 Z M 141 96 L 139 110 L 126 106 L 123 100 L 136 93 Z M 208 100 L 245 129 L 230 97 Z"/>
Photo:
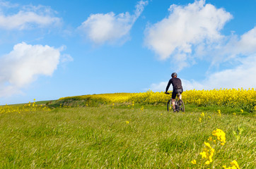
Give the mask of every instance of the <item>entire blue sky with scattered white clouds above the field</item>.
<path id="1" fill-rule="evenodd" d="M 256 86 L 256 1 L 0 0 L 0 105 Z"/>

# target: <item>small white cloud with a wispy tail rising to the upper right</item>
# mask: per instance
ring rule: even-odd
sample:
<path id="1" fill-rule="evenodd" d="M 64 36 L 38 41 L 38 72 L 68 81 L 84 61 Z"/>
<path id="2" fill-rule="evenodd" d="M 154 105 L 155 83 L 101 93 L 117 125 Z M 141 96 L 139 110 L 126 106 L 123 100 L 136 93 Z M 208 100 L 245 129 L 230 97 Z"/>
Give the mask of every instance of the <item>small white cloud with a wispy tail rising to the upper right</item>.
<path id="1" fill-rule="evenodd" d="M 122 38 L 124 40 L 147 4 L 148 1 L 139 1 L 134 15 L 130 15 L 129 12 L 118 15 L 113 12 L 92 14 L 78 29 L 82 30 L 95 44 L 116 42 Z"/>

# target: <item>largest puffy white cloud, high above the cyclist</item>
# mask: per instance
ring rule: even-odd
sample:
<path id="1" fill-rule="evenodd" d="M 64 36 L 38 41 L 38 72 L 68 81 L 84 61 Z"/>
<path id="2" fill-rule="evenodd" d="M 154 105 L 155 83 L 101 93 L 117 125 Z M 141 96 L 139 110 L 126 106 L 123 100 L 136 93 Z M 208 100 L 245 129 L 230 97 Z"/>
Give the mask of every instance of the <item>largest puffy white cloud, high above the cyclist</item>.
<path id="1" fill-rule="evenodd" d="M 205 4 L 205 0 L 187 6 L 172 5 L 169 11 L 167 18 L 147 27 L 145 44 L 161 59 L 173 56 L 183 62 L 183 67 L 195 46 L 211 46 L 223 39 L 220 30 L 232 18 L 223 8 Z"/>

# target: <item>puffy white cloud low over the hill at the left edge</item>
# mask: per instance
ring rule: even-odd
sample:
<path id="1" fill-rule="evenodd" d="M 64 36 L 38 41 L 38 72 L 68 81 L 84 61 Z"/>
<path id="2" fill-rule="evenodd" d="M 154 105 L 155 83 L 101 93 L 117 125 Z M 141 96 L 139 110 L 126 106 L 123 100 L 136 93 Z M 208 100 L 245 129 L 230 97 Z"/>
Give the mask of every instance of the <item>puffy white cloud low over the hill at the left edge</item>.
<path id="1" fill-rule="evenodd" d="M 13 51 L 0 58 L 0 96 L 21 92 L 39 75 L 51 76 L 62 59 L 61 50 L 25 42 L 13 46 Z M 71 56 L 66 58 L 70 61 Z"/>

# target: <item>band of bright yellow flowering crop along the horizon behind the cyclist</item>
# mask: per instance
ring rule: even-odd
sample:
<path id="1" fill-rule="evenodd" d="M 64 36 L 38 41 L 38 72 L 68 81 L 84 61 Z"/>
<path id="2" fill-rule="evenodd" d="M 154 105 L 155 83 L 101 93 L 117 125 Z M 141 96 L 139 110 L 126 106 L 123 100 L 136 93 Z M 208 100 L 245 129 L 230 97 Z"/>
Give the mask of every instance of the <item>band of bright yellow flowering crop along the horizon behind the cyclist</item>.
<path id="1" fill-rule="evenodd" d="M 139 103 L 139 104 L 165 104 L 170 95 L 164 92 L 141 92 L 141 93 L 115 93 L 93 94 L 83 96 L 71 96 L 59 100 L 84 100 L 98 101 L 100 103 Z M 187 90 L 182 93 L 185 104 L 196 106 L 228 106 L 241 108 L 248 112 L 256 111 L 255 89 L 212 89 L 212 90 Z"/>

